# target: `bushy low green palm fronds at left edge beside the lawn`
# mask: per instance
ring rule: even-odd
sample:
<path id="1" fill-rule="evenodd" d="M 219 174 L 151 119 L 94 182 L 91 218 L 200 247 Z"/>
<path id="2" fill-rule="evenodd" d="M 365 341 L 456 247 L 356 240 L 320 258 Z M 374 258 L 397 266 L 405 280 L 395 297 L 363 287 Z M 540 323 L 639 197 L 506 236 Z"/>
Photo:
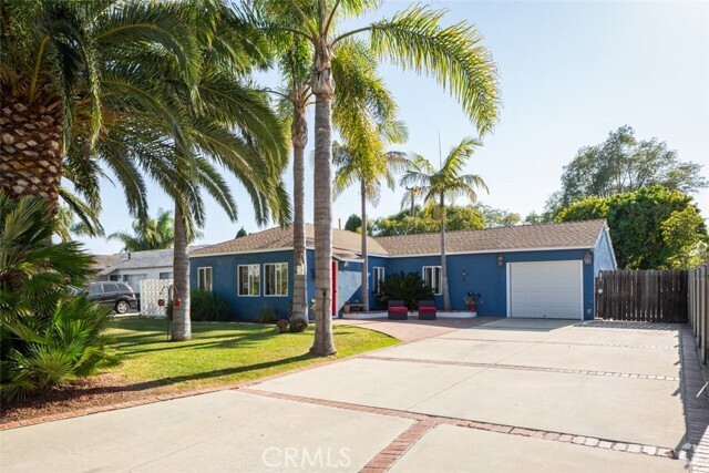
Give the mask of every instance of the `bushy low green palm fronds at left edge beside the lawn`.
<path id="1" fill-rule="evenodd" d="M 93 261 L 76 241 L 52 243 L 56 222 L 40 197 L 0 193 L 0 394 L 22 399 L 116 362 L 103 331 L 111 308 L 74 288 Z"/>

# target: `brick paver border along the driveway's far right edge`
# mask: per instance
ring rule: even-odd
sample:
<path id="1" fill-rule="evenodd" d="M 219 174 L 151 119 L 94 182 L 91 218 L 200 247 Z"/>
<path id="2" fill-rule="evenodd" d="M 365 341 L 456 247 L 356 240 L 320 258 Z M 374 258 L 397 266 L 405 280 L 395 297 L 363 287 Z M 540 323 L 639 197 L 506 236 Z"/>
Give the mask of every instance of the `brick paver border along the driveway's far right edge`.
<path id="1" fill-rule="evenodd" d="M 709 473 L 709 388 L 705 388 L 695 336 L 688 323 L 680 330 L 680 356 L 687 438 L 695 448 L 691 471 Z"/>

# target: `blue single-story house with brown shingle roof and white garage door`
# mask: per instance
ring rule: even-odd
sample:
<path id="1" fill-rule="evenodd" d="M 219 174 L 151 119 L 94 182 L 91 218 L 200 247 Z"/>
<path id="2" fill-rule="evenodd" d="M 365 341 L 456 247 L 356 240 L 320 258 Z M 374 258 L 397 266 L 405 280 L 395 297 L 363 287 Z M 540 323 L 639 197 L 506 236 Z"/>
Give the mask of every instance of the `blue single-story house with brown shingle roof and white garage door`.
<path id="1" fill-rule="evenodd" d="M 308 299 L 315 298 L 314 227 L 306 226 Z M 479 316 L 592 319 L 594 278 L 615 269 L 605 220 L 523 225 L 446 233 L 448 279 L 453 310 L 465 310 L 464 296 L 482 295 Z M 333 315 L 361 300 L 360 235 L 332 230 Z M 393 273 L 418 273 L 433 287 L 442 307 L 440 234 L 369 237 L 369 288 L 372 309 L 378 281 Z M 292 297 L 292 229 L 276 227 L 195 250 L 193 288 L 213 290 L 234 317 L 254 320 L 264 305 L 279 316 Z"/>

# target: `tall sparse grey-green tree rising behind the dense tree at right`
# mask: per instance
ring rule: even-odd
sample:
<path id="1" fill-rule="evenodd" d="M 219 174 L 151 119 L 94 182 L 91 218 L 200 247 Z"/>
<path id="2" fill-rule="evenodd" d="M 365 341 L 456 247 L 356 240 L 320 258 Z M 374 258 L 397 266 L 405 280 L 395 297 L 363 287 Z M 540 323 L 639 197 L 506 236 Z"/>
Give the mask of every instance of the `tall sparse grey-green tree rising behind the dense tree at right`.
<path id="1" fill-rule="evenodd" d="M 620 126 L 604 143 L 578 151 L 564 167 L 562 189 L 552 195 L 547 210 L 557 213 L 584 197 L 609 197 L 654 185 L 691 194 L 709 185 L 700 171 L 699 164 L 679 161 L 665 142 L 639 141 L 630 126 Z"/>

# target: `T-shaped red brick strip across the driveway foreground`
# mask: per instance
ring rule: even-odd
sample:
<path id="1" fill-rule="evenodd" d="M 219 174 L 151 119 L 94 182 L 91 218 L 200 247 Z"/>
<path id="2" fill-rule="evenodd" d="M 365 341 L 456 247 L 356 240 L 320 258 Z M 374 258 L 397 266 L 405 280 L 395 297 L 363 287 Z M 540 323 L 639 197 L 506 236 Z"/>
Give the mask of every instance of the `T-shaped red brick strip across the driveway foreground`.
<path id="1" fill-rule="evenodd" d="M 352 404 L 348 402 L 330 401 L 330 400 L 318 399 L 318 398 L 306 398 L 302 395 L 285 394 L 281 392 L 274 392 L 274 391 L 263 391 L 254 388 L 235 388 L 235 389 L 237 389 L 240 392 L 255 394 L 255 395 L 263 395 L 266 398 L 282 399 L 287 401 L 304 402 L 309 404 L 325 405 L 325 407 L 330 407 L 336 409 L 347 409 L 347 410 L 359 411 L 359 412 L 369 412 L 369 413 L 379 414 L 379 415 L 412 419 L 415 421 L 415 423 L 410 429 L 413 429 L 415 425 L 421 424 L 418 428 L 418 429 L 422 429 L 421 434 L 419 436 L 408 435 L 404 438 L 404 434 L 408 432 L 408 431 L 404 431 L 404 433 L 400 435 L 400 438 L 402 439 L 399 439 L 399 438 L 394 439 L 394 441 L 392 441 L 392 443 L 389 446 L 387 446 L 378 455 L 376 455 L 374 459 L 370 461 L 370 463 L 374 462 L 374 460 L 378 459 L 380 454 L 382 455 L 382 457 L 379 457 L 380 461 L 376 462 L 376 464 L 371 464 L 371 465 L 368 464 L 366 466 L 366 467 L 370 467 L 370 470 L 362 470 L 368 473 L 383 472 L 387 469 L 389 469 L 395 462 L 395 460 L 403 456 L 403 453 L 405 453 L 405 451 L 401 452 L 401 454 L 398 456 L 392 454 L 392 451 L 395 450 L 395 448 L 401 449 L 402 445 L 404 445 L 402 444 L 403 439 L 409 439 L 409 436 L 411 438 L 409 439 L 411 440 L 410 444 L 408 443 L 405 444 L 405 450 L 408 451 L 408 449 L 410 449 L 419 439 L 421 439 L 425 434 L 425 432 L 428 432 L 429 430 L 438 425 L 453 425 L 459 428 L 497 432 L 497 433 L 510 434 L 510 435 L 528 436 L 533 439 L 546 440 L 552 442 L 574 443 L 574 444 L 582 445 L 585 448 L 590 448 L 590 449 L 615 450 L 617 452 L 626 452 L 626 453 L 634 453 L 634 454 L 641 454 L 641 455 L 649 455 L 649 456 L 660 456 L 665 459 L 678 457 L 675 451 L 671 448 L 667 448 L 667 446 L 641 445 L 636 443 L 619 442 L 617 440 L 612 440 L 612 439 L 598 439 L 598 438 L 586 436 L 586 435 L 574 435 L 569 433 L 564 433 L 564 432 L 552 432 L 552 431 L 545 431 L 540 429 L 521 428 L 516 425 L 480 422 L 480 421 L 474 421 L 469 419 L 446 418 L 442 415 L 408 412 L 408 411 L 401 411 L 395 409 L 374 408 L 371 405 Z M 415 432 L 419 432 L 419 430 L 415 430 Z M 388 451 L 387 449 L 390 449 L 390 448 L 392 450 Z M 397 450 L 397 453 L 399 451 Z M 386 467 L 383 466 L 384 462 L 381 461 L 384 457 L 392 459 L 391 463 L 388 464 L 388 466 Z"/>

